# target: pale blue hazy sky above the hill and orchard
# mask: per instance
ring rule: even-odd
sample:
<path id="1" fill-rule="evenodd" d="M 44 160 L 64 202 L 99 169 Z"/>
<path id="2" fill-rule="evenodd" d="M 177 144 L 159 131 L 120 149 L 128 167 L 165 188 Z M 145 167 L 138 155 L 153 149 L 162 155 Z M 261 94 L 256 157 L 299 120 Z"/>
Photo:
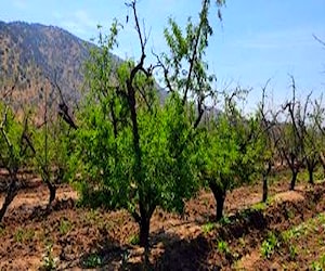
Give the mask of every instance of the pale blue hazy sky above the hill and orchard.
<path id="1" fill-rule="evenodd" d="M 213 1 L 213 0 L 211 0 Z M 151 33 L 151 49 L 166 50 L 162 30 L 172 16 L 185 26 L 187 16 L 197 20 L 200 0 L 139 0 L 139 14 Z M 0 0 L 0 20 L 55 25 L 90 40 L 96 25 L 107 29 L 114 17 L 126 23 L 131 12 L 125 0 Z M 325 0 L 227 0 L 223 21 L 211 9 L 213 37 L 208 49 L 210 72 L 219 88 L 232 83 L 252 88 L 250 103 L 260 98 L 260 88 L 271 78 L 270 91 L 281 103 L 290 95 L 288 74 L 294 75 L 301 96 L 325 92 L 325 48 L 314 38 L 325 40 Z M 120 35 L 121 57 L 139 56 L 133 22 Z M 148 57 L 148 61 L 153 59 Z"/>

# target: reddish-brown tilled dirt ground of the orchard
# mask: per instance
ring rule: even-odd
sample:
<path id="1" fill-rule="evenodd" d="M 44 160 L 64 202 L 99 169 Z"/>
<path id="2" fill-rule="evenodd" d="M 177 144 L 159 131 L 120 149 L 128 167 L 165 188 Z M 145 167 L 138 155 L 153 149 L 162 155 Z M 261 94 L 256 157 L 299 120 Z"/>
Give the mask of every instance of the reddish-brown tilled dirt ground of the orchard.
<path id="1" fill-rule="evenodd" d="M 47 188 L 30 179 L 0 228 L 0 270 L 44 270 L 52 263 L 58 270 L 144 269 L 144 251 L 134 244 L 138 225 L 126 211 L 79 208 L 67 184 L 58 186 L 48 210 Z M 220 223 L 212 222 L 209 191 L 186 203 L 182 216 L 157 209 L 147 269 L 325 269 L 325 182 L 298 183 L 295 191 L 288 183 L 272 183 L 268 204 L 260 204 L 260 184 L 234 190 Z"/>

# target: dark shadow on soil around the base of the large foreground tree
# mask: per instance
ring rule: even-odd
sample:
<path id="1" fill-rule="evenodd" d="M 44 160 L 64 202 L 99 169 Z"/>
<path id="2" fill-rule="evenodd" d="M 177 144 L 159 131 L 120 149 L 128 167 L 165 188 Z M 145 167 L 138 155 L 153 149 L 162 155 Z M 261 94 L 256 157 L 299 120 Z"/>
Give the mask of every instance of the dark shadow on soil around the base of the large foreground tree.
<path id="1" fill-rule="evenodd" d="M 96 270 L 200 270 L 209 251 L 209 244 L 204 236 L 181 240 L 177 234 L 152 234 L 148 261 L 141 247 L 121 246 L 112 240 L 101 240 L 94 245 L 93 253 L 84 254 L 78 267 Z M 157 253 L 162 242 L 164 251 Z M 158 249 L 159 250 L 159 249 Z"/>

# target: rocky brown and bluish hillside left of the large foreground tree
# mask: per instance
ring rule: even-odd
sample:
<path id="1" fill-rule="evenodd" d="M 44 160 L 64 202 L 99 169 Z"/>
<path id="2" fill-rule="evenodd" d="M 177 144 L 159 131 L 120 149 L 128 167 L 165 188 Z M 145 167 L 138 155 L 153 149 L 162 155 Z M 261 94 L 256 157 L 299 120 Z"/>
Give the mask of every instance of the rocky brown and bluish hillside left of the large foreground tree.
<path id="1" fill-rule="evenodd" d="M 83 62 L 91 43 L 54 26 L 22 22 L 0 22 L 0 96 L 11 92 L 16 106 L 39 106 L 41 89 L 50 101 L 58 96 L 56 82 L 65 100 L 80 96 Z"/>

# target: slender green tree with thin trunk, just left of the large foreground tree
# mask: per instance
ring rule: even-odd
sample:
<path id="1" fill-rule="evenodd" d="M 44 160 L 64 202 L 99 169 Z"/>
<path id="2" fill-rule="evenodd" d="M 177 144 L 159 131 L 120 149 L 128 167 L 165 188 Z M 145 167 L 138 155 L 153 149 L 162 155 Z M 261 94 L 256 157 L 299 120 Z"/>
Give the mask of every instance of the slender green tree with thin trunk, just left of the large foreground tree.
<path id="1" fill-rule="evenodd" d="M 62 98 L 62 92 L 58 92 Z M 53 96 L 55 86 L 51 89 L 51 95 Z M 42 181 L 49 189 L 49 205 L 55 199 L 56 195 L 56 184 L 67 180 L 68 170 L 68 153 L 73 149 L 72 133 L 69 132 L 72 128 L 76 127 L 70 125 L 65 119 L 65 115 L 62 112 L 61 102 L 58 105 L 58 114 L 55 114 L 55 108 L 53 107 L 53 101 L 49 101 L 48 90 L 41 89 L 43 92 L 44 103 L 43 103 L 43 116 L 41 124 L 34 124 L 34 130 L 31 132 L 30 146 L 34 151 L 34 166 L 42 178 Z M 37 116 L 35 116 L 37 119 Z"/>

